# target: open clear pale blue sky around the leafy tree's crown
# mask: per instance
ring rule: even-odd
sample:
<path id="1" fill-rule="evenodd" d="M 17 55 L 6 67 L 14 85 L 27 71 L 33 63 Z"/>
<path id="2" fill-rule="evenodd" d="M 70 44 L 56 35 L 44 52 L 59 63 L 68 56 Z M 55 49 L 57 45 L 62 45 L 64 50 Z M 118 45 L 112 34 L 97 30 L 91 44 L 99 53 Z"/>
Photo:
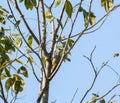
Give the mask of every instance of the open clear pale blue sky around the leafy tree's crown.
<path id="1" fill-rule="evenodd" d="M 71 2 L 74 2 L 74 0 L 71 0 Z M 100 4 L 98 3 L 99 2 L 97 0 L 94 0 L 92 8 L 97 16 L 97 19 L 102 17 L 102 15 L 105 13 L 104 9 L 100 8 Z M 0 5 L 3 4 L 4 1 L 0 0 Z M 78 92 L 74 98 L 73 103 L 80 102 L 81 97 L 89 88 L 93 79 L 91 65 L 88 60 L 83 57 L 83 55 L 89 56 L 95 45 L 96 50 L 93 55 L 93 60 L 96 68 L 99 68 L 104 61 L 107 61 L 113 57 L 114 53 L 120 53 L 119 17 L 120 8 L 109 15 L 104 25 L 98 31 L 84 35 L 79 40 L 75 48 L 72 50 L 70 57 L 71 62 L 63 63 L 60 71 L 51 82 L 49 103 L 54 100 L 56 100 L 56 103 L 70 103 L 77 88 Z M 78 31 L 80 28 L 79 23 L 77 25 L 78 26 L 75 27 L 75 31 Z M 118 73 L 120 73 L 120 57 L 113 58 L 109 64 Z M 100 95 L 105 93 L 105 91 L 109 90 L 116 83 L 117 79 L 118 78 L 116 74 L 111 69 L 107 67 L 104 68 L 98 77 L 94 88 L 88 94 L 83 103 L 85 103 L 87 100 L 90 100 L 92 93 L 98 93 Z M 25 79 L 25 81 L 27 83 L 25 92 L 20 94 L 20 98 L 16 103 L 35 103 L 38 85 L 36 85 L 36 81 L 32 76 L 30 76 L 28 79 Z M 119 91 L 120 88 L 115 89 L 111 95 L 106 97 L 106 99 L 113 96 L 116 92 L 117 94 L 120 94 Z M 120 98 L 118 98 L 117 103 L 120 103 Z"/>

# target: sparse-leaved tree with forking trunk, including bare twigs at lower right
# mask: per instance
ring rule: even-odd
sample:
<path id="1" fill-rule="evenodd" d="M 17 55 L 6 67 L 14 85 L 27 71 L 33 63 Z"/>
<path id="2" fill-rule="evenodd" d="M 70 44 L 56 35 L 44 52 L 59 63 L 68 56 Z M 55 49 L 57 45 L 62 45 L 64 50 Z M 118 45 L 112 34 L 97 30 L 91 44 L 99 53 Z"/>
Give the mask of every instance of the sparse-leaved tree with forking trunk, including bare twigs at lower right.
<path id="1" fill-rule="evenodd" d="M 109 14 L 120 7 L 120 4 L 114 5 L 113 0 L 101 0 L 101 7 L 104 7 L 106 13 L 99 20 L 96 20 L 96 15 L 92 11 L 93 0 L 89 2 L 80 0 L 76 3 L 69 0 L 49 2 L 43 0 L 6 0 L 5 2 L 6 8 L 0 6 L 0 23 L 2 24 L 0 30 L 0 96 L 4 103 L 8 103 L 7 96 L 10 90 L 12 92 L 12 100 L 10 101 L 16 101 L 18 94 L 24 90 L 23 78 L 28 78 L 29 69 L 39 84 L 39 95 L 36 102 L 40 103 L 42 99 L 42 103 L 48 103 L 50 82 L 59 71 L 62 63 L 70 61 L 71 50 L 79 39 L 85 34 L 100 29 Z M 60 14 L 56 14 L 56 11 L 59 11 Z M 82 16 L 79 18 L 81 14 Z M 73 32 L 75 27 L 79 26 L 76 25 L 76 22 L 80 20 L 82 20 L 80 30 Z M 94 50 L 95 48 L 90 57 L 84 56 L 92 66 L 94 79 L 80 103 L 92 89 L 101 70 L 105 66 L 109 66 L 110 60 L 104 62 L 100 69 L 96 70 L 92 61 Z M 16 56 L 14 57 L 14 55 Z M 118 56 L 119 53 L 114 54 L 114 57 Z M 109 66 L 109 68 L 111 67 Z M 114 71 L 114 69 L 112 70 Z M 103 96 L 93 94 L 93 98 L 87 103 L 95 103 L 96 101 L 105 103 L 104 97 L 119 85 L 118 83 L 113 86 Z M 6 92 L 3 86 L 5 86 Z"/>

